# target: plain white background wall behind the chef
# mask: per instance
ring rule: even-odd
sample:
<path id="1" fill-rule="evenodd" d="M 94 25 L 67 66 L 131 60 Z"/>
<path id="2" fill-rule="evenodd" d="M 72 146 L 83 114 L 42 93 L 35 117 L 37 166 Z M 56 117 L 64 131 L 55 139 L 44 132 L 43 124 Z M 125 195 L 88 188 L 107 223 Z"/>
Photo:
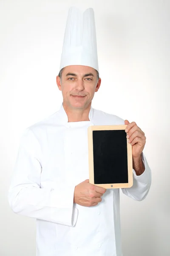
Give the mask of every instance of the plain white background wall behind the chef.
<path id="1" fill-rule="evenodd" d="M 102 84 L 93 108 L 135 121 L 152 169 L 147 198 L 121 193 L 124 256 L 170 255 L 170 1 L 0 1 L 0 255 L 35 256 L 35 220 L 8 206 L 24 129 L 58 111 L 70 6 L 94 8 Z"/>

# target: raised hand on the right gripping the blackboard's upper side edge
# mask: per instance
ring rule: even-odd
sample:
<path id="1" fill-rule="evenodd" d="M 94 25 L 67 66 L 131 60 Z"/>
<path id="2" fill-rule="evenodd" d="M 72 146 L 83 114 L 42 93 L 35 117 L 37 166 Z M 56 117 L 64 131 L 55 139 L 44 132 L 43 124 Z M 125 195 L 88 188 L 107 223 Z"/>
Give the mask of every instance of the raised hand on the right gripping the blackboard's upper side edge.
<path id="1" fill-rule="evenodd" d="M 125 132 L 127 133 L 128 143 L 132 145 L 133 159 L 139 159 L 146 143 L 144 132 L 136 125 L 136 122 L 130 123 L 125 120 L 125 125 L 127 125 Z"/>

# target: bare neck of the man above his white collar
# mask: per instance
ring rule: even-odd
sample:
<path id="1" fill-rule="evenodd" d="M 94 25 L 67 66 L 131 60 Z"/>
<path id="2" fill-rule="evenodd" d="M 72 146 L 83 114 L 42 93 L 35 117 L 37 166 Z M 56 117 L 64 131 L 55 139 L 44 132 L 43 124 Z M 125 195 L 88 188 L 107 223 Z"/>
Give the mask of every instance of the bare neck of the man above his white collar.
<path id="1" fill-rule="evenodd" d="M 81 122 L 81 121 L 90 121 L 89 112 L 91 109 L 91 104 L 87 108 L 68 108 L 67 105 L 63 103 L 63 108 L 68 116 L 68 122 Z"/>

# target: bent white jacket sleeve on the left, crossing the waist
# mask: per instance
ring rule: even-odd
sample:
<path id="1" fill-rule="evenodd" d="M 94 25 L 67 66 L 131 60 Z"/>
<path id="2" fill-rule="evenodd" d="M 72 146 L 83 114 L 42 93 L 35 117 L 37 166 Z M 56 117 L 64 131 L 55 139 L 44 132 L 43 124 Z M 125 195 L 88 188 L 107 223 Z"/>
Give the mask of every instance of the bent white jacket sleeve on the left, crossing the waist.
<path id="1" fill-rule="evenodd" d="M 41 147 L 27 128 L 20 140 L 14 174 L 8 191 L 11 209 L 20 215 L 73 227 L 78 210 L 74 208 L 75 185 L 53 183 L 41 188 Z"/>

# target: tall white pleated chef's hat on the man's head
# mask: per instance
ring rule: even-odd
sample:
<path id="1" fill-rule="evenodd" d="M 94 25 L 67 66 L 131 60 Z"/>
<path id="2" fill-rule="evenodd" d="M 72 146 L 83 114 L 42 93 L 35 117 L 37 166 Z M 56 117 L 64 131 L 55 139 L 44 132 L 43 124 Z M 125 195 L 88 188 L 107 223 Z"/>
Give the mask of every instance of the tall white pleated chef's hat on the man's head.
<path id="1" fill-rule="evenodd" d="M 82 13 L 76 7 L 68 11 L 60 70 L 70 65 L 93 67 L 99 71 L 94 10 Z"/>

